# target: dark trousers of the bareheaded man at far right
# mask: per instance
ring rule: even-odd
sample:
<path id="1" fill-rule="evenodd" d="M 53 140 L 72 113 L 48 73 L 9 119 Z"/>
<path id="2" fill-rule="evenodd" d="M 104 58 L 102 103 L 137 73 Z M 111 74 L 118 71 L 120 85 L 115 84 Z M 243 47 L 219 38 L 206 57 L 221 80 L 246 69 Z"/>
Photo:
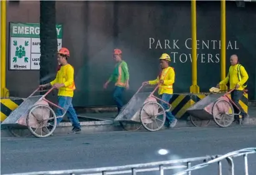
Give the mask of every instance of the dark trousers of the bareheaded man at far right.
<path id="1" fill-rule="evenodd" d="M 244 94 L 244 91 L 239 91 L 239 90 L 234 90 L 231 92 L 231 99 L 232 101 L 234 101 L 234 103 L 237 105 L 237 107 L 239 107 L 241 113 L 240 115 L 242 115 L 243 119 L 244 117 L 247 116 L 246 112 L 244 111 L 244 109 L 242 109 L 241 105 L 239 104 L 239 100 L 242 99 L 242 96 Z M 234 107 L 234 111 L 235 111 L 235 114 L 238 114 L 239 113 L 239 110 L 237 109 L 237 107 Z M 239 120 L 239 116 L 238 115 L 235 115 L 235 120 Z"/>

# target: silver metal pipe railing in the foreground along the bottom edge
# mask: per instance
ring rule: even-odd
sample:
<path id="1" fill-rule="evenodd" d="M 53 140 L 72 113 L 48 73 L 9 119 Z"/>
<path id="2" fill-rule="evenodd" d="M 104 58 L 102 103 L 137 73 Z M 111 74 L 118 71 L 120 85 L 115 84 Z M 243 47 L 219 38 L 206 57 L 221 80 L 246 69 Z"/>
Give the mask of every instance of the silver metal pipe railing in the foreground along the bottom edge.
<path id="1" fill-rule="evenodd" d="M 245 161 L 245 175 L 248 175 L 248 159 L 247 155 L 256 153 L 256 148 L 245 148 L 238 151 L 233 151 L 227 153 L 226 155 L 220 156 L 204 156 L 197 158 L 188 159 L 177 159 L 170 161 L 158 161 L 152 163 L 141 163 L 141 164 L 130 164 L 125 166 L 113 166 L 104 168 L 91 168 L 91 169 L 70 169 L 70 170 L 60 170 L 60 171 L 39 171 L 31 173 L 16 173 L 16 174 L 3 174 L 3 175 L 46 175 L 46 174 L 83 174 L 83 175 L 107 175 L 107 174 L 126 174 L 131 173 L 136 175 L 136 173 L 149 172 L 149 171 L 159 171 L 161 175 L 164 175 L 164 170 L 167 169 L 185 169 L 179 173 L 173 175 L 187 174 L 191 175 L 192 171 L 196 169 L 201 169 L 209 164 L 217 163 L 219 175 L 222 175 L 222 164 L 221 161 L 227 159 L 229 164 L 229 174 L 234 175 L 234 162 L 232 158 L 244 155 Z M 204 163 L 197 164 L 191 167 L 191 162 L 202 161 Z"/>

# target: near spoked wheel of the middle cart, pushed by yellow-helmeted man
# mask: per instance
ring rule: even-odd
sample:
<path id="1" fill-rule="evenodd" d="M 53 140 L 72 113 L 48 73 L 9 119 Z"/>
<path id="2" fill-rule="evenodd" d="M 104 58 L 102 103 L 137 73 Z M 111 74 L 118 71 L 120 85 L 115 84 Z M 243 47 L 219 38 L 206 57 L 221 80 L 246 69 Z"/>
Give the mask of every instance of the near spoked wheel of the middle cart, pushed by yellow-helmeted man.
<path id="1" fill-rule="evenodd" d="M 146 130 L 154 132 L 163 127 L 166 113 L 158 102 L 146 102 L 140 110 L 140 120 Z"/>

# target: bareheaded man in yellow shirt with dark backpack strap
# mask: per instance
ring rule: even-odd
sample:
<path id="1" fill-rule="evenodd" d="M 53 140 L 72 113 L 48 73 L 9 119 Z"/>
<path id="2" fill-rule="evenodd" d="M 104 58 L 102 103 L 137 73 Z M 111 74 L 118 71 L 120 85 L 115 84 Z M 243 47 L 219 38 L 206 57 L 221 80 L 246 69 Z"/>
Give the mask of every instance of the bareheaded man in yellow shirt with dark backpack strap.
<path id="1" fill-rule="evenodd" d="M 244 66 L 239 64 L 237 55 L 230 56 L 230 64 L 231 66 L 229 67 L 229 73 L 227 74 L 227 77 L 223 81 L 220 81 L 220 83 L 217 84 L 216 87 L 219 88 L 221 84 L 229 84 L 229 89 L 235 89 L 231 92 L 231 99 L 232 101 L 234 101 L 237 107 L 239 107 L 242 119 L 245 119 L 245 117 L 247 117 L 247 114 L 239 104 L 239 100 L 244 94 L 245 87 L 247 87 L 247 80 L 249 79 L 249 76 L 247 74 L 247 71 L 245 71 Z M 236 114 L 239 113 L 237 107 L 234 107 Z M 239 122 L 239 116 L 235 116 L 235 121 Z"/>

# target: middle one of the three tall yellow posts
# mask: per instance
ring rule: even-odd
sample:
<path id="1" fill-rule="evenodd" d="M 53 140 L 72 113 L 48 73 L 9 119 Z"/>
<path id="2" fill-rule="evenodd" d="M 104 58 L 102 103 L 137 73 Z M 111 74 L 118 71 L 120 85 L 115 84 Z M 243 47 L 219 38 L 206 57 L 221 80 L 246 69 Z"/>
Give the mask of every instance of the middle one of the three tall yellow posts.
<path id="1" fill-rule="evenodd" d="M 191 34 L 192 34 L 192 85 L 191 93 L 199 93 L 197 86 L 197 45 L 196 45 L 196 0 L 191 0 Z"/>

